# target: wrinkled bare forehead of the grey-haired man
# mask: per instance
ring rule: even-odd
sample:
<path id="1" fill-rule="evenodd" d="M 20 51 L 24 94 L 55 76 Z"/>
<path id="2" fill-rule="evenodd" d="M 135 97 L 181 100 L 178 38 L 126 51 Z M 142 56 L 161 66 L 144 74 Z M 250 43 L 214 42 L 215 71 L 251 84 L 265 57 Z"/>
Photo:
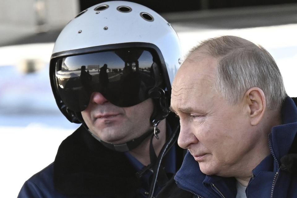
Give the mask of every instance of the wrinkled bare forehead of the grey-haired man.
<path id="1" fill-rule="evenodd" d="M 214 92 L 217 59 L 206 54 L 190 54 L 179 68 L 173 84 L 171 105 L 185 105 Z"/>

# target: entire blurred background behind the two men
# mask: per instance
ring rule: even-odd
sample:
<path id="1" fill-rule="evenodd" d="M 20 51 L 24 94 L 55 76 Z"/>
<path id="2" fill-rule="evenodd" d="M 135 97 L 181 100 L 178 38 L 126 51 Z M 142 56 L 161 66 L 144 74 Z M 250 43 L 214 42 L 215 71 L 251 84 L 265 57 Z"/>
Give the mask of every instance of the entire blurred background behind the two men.
<path id="1" fill-rule="evenodd" d="M 105 1 L 0 1 L 0 197 L 54 161 L 79 125 L 59 112 L 49 84 L 49 59 L 62 28 L 80 11 Z M 209 37 L 235 35 L 265 47 L 289 96 L 297 97 L 296 0 L 138 0 L 177 31 L 184 54 Z"/>

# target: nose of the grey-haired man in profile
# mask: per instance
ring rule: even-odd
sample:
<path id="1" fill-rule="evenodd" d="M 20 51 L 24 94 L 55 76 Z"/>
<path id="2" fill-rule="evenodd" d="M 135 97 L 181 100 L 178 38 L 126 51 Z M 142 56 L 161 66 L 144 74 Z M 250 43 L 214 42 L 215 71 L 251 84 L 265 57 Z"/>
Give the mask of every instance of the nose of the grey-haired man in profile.
<path id="1" fill-rule="evenodd" d="M 191 144 L 199 142 L 193 133 L 192 126 L 190 124 L 191 123 L 184 123 L 183 121 L 180 121 L 180 132 L 177 143 L 183 149 L 189 149 Z"/>

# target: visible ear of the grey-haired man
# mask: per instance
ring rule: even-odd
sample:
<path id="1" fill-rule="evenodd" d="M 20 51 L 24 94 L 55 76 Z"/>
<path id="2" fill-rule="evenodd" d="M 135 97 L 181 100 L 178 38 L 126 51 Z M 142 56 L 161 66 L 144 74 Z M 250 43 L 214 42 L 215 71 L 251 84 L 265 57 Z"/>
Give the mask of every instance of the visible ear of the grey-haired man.
<path id="1" fill-rule="evenodd" d="M 251 125 L 255 126 L 260 122 L 266 110 L 264 92 L 258 87 L 252 87 L 244 94 L 244 98 L 247 102 Z"/>

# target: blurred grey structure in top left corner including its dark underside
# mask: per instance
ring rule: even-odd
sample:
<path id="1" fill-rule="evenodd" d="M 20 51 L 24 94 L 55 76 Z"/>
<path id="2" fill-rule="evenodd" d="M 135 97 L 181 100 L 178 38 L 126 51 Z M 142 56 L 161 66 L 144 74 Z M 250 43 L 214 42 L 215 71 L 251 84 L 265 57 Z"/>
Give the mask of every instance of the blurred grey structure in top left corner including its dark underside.
<path id="1" fill-rule="evenodd" d="M 0 1 L 0 46 L 53 42 L 79 10 L 78 0 Z"/>

